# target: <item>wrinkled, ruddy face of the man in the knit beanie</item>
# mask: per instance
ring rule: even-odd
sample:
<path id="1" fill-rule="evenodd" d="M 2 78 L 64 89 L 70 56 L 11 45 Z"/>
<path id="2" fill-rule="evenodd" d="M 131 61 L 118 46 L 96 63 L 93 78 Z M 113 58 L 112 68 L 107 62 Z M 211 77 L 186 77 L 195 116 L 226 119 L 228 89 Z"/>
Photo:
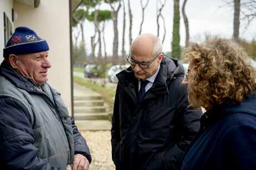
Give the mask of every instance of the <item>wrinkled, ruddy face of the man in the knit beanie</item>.
<path id="1" fill-rule="evenodd" d="M 17 72 L 31 77 L 38 85 L 47 81 L 47 71 L 51 67 L 48 51 L 17 55 Z"/>

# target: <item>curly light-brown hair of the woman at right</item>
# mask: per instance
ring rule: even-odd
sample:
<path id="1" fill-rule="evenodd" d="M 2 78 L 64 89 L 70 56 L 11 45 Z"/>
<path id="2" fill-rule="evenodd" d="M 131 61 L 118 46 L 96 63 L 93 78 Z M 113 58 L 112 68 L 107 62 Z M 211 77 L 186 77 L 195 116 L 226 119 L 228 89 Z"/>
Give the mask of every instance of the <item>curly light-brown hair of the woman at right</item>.
<path id="1" fill-rule="evenodd" d="M 211 111 L 238 104 L 254 94 L 255 72 L 244 49 L 233 39 L 214 38 L 194 44 L 183 55 L 193 63 L 188 73 L 190 105 Z"/>

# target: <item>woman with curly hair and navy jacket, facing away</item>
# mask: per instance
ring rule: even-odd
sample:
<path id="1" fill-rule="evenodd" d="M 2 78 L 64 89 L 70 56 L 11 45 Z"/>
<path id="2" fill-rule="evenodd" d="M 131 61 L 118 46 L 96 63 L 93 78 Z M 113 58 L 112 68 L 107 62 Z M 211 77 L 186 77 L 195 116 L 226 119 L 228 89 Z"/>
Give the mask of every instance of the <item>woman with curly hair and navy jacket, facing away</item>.
<path id="1" fill-rule="evenodd" d="M 214 38 L 183 52 L 188 100 L 203 107 L 201 127 L 180 169 L 256 169 L 255 72 L 233 39 Z"/>

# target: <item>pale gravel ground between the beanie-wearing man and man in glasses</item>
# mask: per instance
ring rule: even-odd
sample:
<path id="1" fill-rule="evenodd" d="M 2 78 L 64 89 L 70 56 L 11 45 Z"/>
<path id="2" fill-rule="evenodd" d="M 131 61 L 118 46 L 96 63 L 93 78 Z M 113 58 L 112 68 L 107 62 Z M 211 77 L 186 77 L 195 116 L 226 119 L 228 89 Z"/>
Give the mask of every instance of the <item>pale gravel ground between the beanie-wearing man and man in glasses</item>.
<path id="1" fill-rule="evenodd" d="M 111 156 L 110 131 L 80 131 L 90 148 L 91 157 L 98 170 L 114 170 Z"/>

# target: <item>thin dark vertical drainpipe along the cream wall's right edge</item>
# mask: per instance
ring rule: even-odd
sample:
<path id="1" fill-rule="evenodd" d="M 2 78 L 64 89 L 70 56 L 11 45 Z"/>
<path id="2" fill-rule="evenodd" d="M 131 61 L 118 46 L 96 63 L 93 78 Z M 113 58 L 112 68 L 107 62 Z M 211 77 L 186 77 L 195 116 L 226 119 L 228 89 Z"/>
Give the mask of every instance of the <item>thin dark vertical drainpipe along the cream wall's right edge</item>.
<path id="1" fill-rule="evenodd" d="M 73 44 L 72 44 L 72 0 L 69 0 L 69 39 L 70 39 L 70 76 L 71 76 L 71 115 L 74 116 L 74 91 L 73 91 Z"/>

